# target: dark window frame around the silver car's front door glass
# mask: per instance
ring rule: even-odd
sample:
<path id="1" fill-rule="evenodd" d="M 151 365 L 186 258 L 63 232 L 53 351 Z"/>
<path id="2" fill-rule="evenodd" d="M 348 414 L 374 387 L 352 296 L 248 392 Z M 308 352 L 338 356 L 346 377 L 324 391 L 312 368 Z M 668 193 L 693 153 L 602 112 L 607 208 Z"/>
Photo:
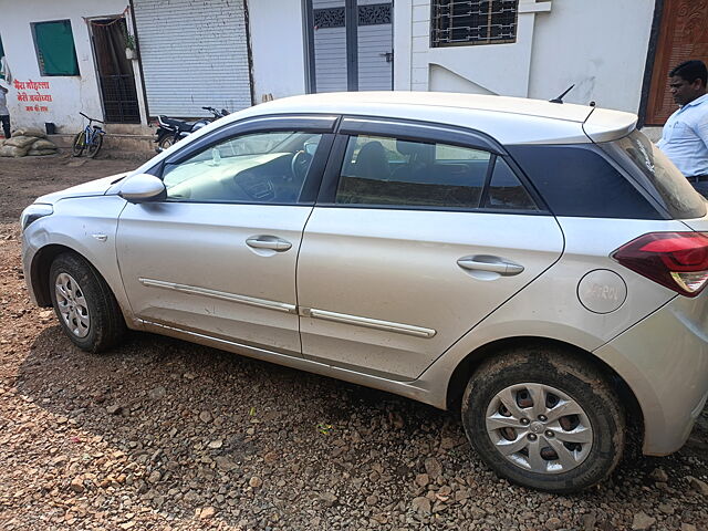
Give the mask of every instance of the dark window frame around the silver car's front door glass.
<path id="1" fill-rule="evenodd" d="M 155 166 L 150 167 L 146 173 L 154 175 L 159 179 L 164 179 L 165 166 L 168 164 L 179 165 L 190 159 L 192 156 L 209 149 L 225 142 L 228 138 L 257 134 L 257 133 L 275 133 L 279 131 L 301 131 L 305 133 L 322 134 L 317 150 L 314 154 L 308 175 L 302 186 L 302 192 L 296 202 L 258 202 L 258 201 L 167 201 L 160 202 L 184 202 L 184 204 L 211 204 L 211 205 L 259 205 L 259 206 L 312 206 L 315 202 L 322 174 L 330 156 L 332 143 L 334 142 L 333 131 L 339 123 L 340 117 L 336 115 L 269 115 L 244 118 L 239 122 L 226 124 L 214 132 L 197 138 L 184 149 L 171 154 L 159 160 Z"/>

